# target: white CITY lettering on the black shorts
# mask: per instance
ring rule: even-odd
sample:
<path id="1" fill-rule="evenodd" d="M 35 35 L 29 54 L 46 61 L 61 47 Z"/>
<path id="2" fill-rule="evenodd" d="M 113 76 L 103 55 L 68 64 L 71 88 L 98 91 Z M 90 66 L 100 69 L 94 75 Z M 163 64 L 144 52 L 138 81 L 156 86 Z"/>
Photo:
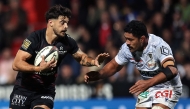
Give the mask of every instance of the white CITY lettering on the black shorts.
<path id="1" fill-rule="evenodd" d="M 14 94 L 14 97 L 11 100 L 11 104 L 18 106 L 25 106 L 24 102 L 26 101 L 26 99 L 27 99 L 26 96 Z"/>

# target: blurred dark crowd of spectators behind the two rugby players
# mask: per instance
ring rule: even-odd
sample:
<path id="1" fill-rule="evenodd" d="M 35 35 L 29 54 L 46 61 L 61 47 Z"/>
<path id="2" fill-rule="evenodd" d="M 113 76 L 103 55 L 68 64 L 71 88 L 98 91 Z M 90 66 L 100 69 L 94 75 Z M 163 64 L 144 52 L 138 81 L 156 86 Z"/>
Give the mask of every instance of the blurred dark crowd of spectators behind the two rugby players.
<path id="1" fill-rule="evenodd" d="M 71 9 L 67 34 L 91 57 L 118 52 L 125 41 L 123 28 L 131 20 L 143 21 L 148 32 L 162 37 L 172 48 L 184 89 L 190 97 L 190 2 L 188 0 L 0 0 L 0 85 L 14 84 L 12 62 L 29 33 L 45 27 L 45 11 L 60 4 Z M 97 67 L 83 67 L 68 55 L 59 68 L 57 85 L 85 84 L 84 74 Z M 107 80 L 91 84 L 96 92 L 113 85 L 116 97 L 131 96 L 128 88 L 140 79 L 132 64 Z M 95 93 L 92 97 L 97 97 Z M 182 96 L 183 97 L 183 96 Z"/>

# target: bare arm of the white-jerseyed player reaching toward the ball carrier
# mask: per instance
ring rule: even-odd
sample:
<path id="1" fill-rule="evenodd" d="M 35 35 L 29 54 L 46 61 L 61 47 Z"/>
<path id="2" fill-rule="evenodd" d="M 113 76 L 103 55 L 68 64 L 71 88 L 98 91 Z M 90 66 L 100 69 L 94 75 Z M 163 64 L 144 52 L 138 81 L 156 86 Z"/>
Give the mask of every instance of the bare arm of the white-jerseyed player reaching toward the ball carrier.
<path id="1" fill-rule="evenodd" d="M 84 76 L 85 82 L 97 81 L 114 75 L 117 71 L 121 70 L 123 66 L 119 65 L 115 58 L 107 63 L 100 71 L 90 71 Z"/>

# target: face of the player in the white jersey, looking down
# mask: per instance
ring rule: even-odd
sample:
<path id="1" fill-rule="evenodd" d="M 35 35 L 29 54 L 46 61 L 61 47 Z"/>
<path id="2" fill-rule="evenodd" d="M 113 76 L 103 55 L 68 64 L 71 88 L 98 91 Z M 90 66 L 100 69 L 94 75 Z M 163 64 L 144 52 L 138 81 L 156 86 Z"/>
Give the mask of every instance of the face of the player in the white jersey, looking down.
<path id="1" fill-rule="evenodd" d="M 140 39 L 133 36 L 133 34 L 125 32 L 124 37 L 131 52 L 139 51 L 142 48 Z"/>

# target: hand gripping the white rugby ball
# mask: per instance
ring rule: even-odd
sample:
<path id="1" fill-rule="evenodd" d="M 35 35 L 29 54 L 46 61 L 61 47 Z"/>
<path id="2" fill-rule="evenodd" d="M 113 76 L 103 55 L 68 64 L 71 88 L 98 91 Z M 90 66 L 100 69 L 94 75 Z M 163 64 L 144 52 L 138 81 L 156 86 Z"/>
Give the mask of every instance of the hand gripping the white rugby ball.
<path id="1" fill-rule="evenodd" d="M 53 70 L 54 67 L 57 65 L 57 61 L 55 61 L 55 58 L 52 58 L 49 62 L 46 62 L 45 57 L 42 56 L 42 61 L 40 62 L 40 68 L 41 72 L 42 71 L 48 71 L 48 70 Z"/>

